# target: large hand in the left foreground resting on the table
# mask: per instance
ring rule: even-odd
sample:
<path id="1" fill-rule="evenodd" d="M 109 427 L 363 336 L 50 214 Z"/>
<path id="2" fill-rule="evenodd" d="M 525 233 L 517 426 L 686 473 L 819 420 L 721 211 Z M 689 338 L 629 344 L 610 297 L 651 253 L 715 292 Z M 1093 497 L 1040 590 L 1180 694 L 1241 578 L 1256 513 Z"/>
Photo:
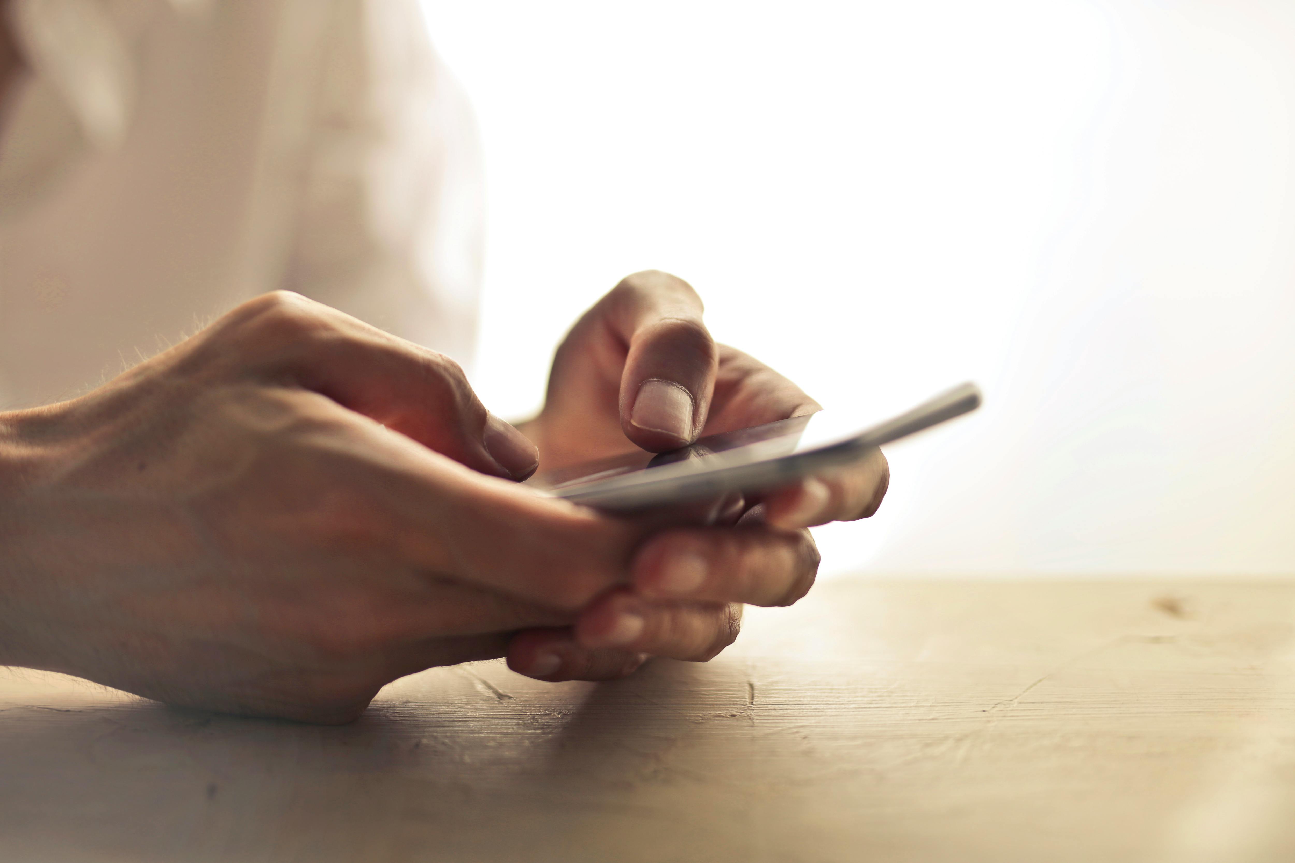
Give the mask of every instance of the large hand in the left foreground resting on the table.
<path id="1" fill-rule="evenodd" d="M 645 528 L 508 481 L 535 463 L 445 357 L 259 298 L 82 399 L 0 414 L 0 664 L 352 719 L 628 578 Z"/>

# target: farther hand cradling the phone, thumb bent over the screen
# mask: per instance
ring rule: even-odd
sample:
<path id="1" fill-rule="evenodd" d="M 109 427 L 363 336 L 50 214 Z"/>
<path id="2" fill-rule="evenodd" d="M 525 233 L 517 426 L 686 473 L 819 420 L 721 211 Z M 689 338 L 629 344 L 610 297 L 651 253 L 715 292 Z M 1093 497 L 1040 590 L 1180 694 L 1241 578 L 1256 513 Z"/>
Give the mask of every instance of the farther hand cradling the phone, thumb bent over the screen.
<path id="1" fill-rule="evenodd" d="M 818 409 L 764 364 L 716 344 L 686 282 L 649 270 L 623 279 L 576 322 L 554 357 L 544 410 L 521 428 L 548 471 Z M 805 528 L 870 516 L 888 479 L 874 450 L 848 468 L 746 499 L 733 527 L 657 533 L 635 558 L 631 586 L 600 596 L 575 626 L 521 633 L 509 666 L 546 681 L 605 679 L 648 655 L 708 660 L 737 637 L 742 603 L 783 606 L 809 590 L 818 552 Z"/>

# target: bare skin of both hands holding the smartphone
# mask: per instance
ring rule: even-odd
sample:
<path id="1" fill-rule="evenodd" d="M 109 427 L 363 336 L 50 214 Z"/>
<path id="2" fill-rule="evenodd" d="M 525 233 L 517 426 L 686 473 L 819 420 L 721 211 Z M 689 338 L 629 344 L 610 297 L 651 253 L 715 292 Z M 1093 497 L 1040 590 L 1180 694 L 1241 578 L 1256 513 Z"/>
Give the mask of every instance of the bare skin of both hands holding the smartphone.
<path id="1" fill-rule="evenodd" d="M 558 353 L 527 427 L 540 452 L 444 356 L 287 292 L 82 399 L 0 414 L 0 664 L 335 723 L 434 665 L 506 655 L 605 679 L 648 653 L 710 659 L 736 603 L 808 590 L 799 528 L 870 514 L 883 462 L 728 528 L 660 530 L 517 481 L 580 435 L 613 441 L 609 424 L 623 446 L 677 442 L 629 422 L 642 375 L 695 388 L 689 435 L 813 408 L 699 313 L 664 274 L 618 286 Z M 699 349 L 673 367 L 680 339 Z M 686 590 L 668 577 L 681 549 L 704 563 Z"/>

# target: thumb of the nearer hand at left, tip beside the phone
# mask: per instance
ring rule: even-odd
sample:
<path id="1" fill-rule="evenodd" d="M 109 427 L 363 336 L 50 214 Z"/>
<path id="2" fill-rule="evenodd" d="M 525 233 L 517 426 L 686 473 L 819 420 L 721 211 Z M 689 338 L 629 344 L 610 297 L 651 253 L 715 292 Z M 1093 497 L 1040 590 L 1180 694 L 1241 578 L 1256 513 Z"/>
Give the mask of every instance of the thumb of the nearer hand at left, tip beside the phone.
<path id="1" fill-rule="evenodd" d="M 438 453 L 522 480 L 539 452 L 490 414 L 449 357 L 304 296 L 276 291 L 231 312 L 206 344 L 262 377 L 333 399 Z M 231 343 L 232 339 L 232 343 Z"/>

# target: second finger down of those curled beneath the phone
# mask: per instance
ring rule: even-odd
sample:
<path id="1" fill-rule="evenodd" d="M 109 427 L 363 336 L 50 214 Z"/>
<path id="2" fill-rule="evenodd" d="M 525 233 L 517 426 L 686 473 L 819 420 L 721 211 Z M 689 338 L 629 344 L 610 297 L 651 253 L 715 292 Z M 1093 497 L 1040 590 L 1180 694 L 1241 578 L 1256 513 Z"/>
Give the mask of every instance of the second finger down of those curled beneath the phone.
<path id="1" fill-rule="evenodd" d="M 790 606 L 813 586 L 818 549 L 808 530 L 758 520 L 670 530 L 644 543 L 631 572 L 637 593 L 651 599 Z"/>

